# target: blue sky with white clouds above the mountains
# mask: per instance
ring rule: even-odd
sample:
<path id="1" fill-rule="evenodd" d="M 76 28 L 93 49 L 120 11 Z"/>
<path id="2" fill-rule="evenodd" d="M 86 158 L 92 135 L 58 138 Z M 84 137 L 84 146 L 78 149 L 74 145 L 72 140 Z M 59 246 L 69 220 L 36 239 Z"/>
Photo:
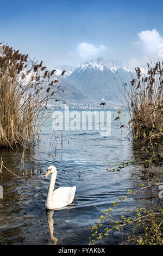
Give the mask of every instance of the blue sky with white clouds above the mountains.
<path id="1" fill-rule="evenodd" d="M 96 57 L 163 59 L 163 1 L 0 0 L 0 41 L 49 68 Z"/>

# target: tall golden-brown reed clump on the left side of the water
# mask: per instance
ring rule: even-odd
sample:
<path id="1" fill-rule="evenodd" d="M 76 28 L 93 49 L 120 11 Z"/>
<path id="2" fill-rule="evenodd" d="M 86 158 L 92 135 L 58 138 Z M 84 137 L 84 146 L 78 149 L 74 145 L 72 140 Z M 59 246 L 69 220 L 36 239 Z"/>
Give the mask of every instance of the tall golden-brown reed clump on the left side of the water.
<path id="1" fill-rule="evenodd" d="M 0 147 L 28 147 L 39 131 L 48 100 L 61 90 L 55 70 L 3 46 L 0 56 Z"/>

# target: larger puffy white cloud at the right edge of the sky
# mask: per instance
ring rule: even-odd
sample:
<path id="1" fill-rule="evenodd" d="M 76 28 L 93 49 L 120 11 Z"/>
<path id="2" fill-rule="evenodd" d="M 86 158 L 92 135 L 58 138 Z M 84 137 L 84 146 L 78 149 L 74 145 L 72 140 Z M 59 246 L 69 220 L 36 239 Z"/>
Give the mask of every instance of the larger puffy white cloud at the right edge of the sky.
<path id="1" fill-rule="evenodd" d="M 142 31 L 137 33 L 137 35 L 139 37 L 138 43 L 143 46 L 145 51 L 158 52 L 159 55 L 159 48 L 162 47 L 163 38 L 155 28 L 152 31 Z"/>

